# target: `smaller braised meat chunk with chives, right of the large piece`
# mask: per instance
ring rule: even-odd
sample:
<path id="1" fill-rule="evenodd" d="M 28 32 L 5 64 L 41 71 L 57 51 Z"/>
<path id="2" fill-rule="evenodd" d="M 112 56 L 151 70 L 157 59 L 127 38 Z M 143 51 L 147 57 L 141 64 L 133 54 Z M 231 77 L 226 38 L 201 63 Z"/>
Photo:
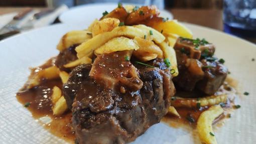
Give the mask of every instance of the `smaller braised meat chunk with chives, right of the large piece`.
<path id="1" fill-rule="evenodd" d="M 204 39 L 178 38 L 174 49 L 179 69 L 174 82 L 180 89 L 198 89 L 211 95 L 223 84 L 228 70 L 214 57 L 212 44 Z"/>

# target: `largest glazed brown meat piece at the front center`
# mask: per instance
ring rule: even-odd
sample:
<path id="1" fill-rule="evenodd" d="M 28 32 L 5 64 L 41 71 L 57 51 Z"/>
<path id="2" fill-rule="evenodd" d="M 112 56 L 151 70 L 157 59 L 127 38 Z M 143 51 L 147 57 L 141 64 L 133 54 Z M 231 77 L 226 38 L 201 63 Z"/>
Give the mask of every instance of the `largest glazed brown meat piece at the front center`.
<path id="1" fill-rule="evenodd" d="M 175 93 L 170 69 L 161 59 L 149 62 L 154 68 L 124 59 L 131 54 L 99 55 L 71 72 L 63 91 L 78 143 L 133 141 L 167 113 Z"/>

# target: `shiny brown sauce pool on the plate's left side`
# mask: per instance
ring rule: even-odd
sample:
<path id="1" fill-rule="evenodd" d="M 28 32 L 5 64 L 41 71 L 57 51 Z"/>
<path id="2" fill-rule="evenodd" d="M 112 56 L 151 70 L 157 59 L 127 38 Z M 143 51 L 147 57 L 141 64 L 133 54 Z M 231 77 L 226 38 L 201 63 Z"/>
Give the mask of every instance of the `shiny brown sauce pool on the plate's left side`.
<path id="1" fill-rule="evenodd" d="M 52 66 L 52 63 L 53 59 L 43 66 L 32 69 L 31 76 L 37 69 Z M 16 94 L 16 97 L 23 105 L 27 105 L 29 103 L 26 108 L 32 113 L 33 117 L 52 134 L 66 140 L 67 142 L 74 143 L 75 134 L 71 127 L 71 111 L 67 111 L 61 116 L 53 115 L 51 94 L 54 86 L 62 88 L 61 80 L 45 80 L 39 86 L 28 90 L 21 90 Z"/>

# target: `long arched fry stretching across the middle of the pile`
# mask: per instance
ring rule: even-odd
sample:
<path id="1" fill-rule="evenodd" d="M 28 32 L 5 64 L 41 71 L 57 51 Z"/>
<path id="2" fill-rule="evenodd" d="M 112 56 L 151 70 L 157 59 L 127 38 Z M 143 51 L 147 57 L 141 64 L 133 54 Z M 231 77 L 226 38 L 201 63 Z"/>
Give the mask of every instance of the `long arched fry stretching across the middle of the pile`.
<path id="1" fill-rule="evenodd" d="M 82 43 L 81 45 L 76 47 L 75 50 L 77 52 L 77 57 L 82 58 L 115 37 L 125 36 L 133 39 L 135 37 L 144 38 L 145 35 L 147 36 L 147 34 L 143 30 L 136 27 L 132 27 L 132 26 L 116 27 L 111 32 L 105 32 L 105 33 L 99 34 L 93 37 L 92 39 Z M 156 43 L 163 42 L 163 39 L 157 37 L 157 35 L 153 35 L 153 40 Z"/>

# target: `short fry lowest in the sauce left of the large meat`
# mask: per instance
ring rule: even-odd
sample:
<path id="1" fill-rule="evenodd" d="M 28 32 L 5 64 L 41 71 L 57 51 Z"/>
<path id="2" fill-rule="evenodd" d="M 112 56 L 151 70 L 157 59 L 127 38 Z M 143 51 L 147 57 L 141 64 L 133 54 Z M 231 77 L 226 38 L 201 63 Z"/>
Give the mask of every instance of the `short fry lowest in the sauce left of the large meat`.
<path id="1" fill-rule="evenodd" d="M 53 106 L 53 114 L 54 115 L 61 115 L 68 109 L 68 106 L 66 104 L 66 100 L 64 96 L 61 96 L 60 99 L 56 102 L 56 104 Z"/>

